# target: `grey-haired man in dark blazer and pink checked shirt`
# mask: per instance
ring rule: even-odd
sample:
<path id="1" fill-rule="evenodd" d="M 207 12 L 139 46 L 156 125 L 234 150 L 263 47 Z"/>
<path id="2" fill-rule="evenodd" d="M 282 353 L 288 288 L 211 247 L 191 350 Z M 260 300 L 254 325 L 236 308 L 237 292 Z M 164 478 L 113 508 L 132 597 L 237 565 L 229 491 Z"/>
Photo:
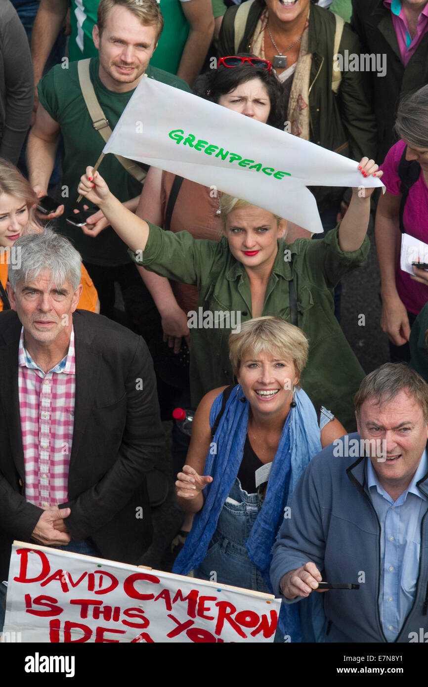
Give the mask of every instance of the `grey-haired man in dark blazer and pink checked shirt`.
<path id="1" fill-rule="evenodd" d="M 12 311 L 0 314 L 0 581 L 13 539 L 137 563 L 162 447 L 150 354 L 128 329 L 76 310 L 81 259 L 66 238 L 45 230 L 13 249 Z"/>

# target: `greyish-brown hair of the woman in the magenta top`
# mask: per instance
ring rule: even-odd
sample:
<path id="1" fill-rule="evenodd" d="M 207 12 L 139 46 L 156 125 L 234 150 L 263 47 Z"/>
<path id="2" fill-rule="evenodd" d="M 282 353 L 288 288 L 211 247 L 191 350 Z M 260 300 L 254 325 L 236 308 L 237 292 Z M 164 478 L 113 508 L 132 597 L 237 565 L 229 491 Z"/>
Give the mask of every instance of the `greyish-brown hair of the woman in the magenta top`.
<path id="1" fill-rule="evenodd" d="M 428 148 L 428 85 L 401 100 L 395 131 L 411 146 Z"/>

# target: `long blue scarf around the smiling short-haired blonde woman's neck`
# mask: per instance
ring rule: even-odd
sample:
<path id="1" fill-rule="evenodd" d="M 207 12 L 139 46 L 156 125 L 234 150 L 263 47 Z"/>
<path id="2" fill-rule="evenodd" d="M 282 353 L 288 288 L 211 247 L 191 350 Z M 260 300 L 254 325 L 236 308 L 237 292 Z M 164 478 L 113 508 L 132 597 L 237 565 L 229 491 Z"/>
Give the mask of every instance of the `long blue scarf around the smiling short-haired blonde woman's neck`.
<path id="1" fill-rule="evenodd" d="M 284 423 L 262 508 L 245 541 L 249 557 L 259 568 L 269 589 L 272 589 L 269 579 L 272 548 L 284 518 L 284 506 L 290 501 L 308 462 L 322 450 L 315 408 L 302 389 L 295 393 L 294 399 L 296 406 L 290 410 Z M 211 426 L 220 412 L 222 401 L 223 394 L 219 394 L 212 404 Z M 205 486 L 205 504 L 194 517 L 192 531 L 174 563 L 174 573 L 188 574 L 205 558 L 218 517 L 243 460 L 248 413 L 249 403 L 241 403 L 236 389 L 232 390 L 205 460 L 204 475 L 211 475 L 213 480 Z M 295 626 L 298 616 L 296 605 L 282 604 L 282 609 L 281 616 L 289 616 L 287 629 L 289 623 Z M 293 641 L 296 641 L 295 635 L 296 631 L 294 636 L 291 635 Z"/>

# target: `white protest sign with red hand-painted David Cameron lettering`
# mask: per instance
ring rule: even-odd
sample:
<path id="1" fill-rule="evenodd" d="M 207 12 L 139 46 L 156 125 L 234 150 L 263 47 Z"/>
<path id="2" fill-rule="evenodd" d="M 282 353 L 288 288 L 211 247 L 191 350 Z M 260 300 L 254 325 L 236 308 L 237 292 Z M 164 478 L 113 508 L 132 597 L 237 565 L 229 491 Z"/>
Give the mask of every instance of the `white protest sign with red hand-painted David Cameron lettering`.
<path id="1" fill-rule="evenodd" d="M 5 632 L 22 642 L 273 642 L 281 601 L 14 541 Z"/>

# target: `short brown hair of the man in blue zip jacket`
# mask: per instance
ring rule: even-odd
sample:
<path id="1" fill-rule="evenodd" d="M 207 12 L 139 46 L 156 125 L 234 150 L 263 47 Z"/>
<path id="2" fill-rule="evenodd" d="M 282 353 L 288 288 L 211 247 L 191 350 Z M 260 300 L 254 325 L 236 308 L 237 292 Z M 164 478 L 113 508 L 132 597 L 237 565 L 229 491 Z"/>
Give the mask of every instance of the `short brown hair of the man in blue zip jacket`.
<path id="1" fill-rule="evenodd" d="M 405 363 L 385 363 L 364 377 L 354 396 L 357 417 L 360 416 L 361 406 L 369 398 L 374 398 L 381 405 L 392 401 L 401 391 L 413 396 L 422 408 L 425 422 L 428 422 L 428 384 Z"/>

